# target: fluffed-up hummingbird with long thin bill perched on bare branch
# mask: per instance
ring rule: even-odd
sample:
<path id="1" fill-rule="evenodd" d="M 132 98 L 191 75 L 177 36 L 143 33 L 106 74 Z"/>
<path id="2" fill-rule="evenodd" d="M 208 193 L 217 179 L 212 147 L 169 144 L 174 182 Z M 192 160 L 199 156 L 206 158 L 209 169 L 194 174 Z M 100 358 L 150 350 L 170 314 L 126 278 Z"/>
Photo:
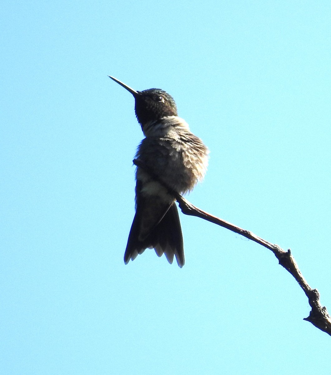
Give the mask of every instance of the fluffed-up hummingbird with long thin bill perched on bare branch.
<path id="1" fill-rule="evenodd" d="M 145 135 L 136 158 L 146 169 L 136 169 L 136 214 L 124 263 L 128 264 L 145 249 L 154 248 L 159 257 L 165 254 L 170 264 L 175 256 L 182 268 L 185 263 L 183 236 L 171 190 L 182 195 L 203 180 L 208 148 L 190 132 L 188 123 L 178 117 L 176 103 L 168 93 L 161 89 L 136 91 L 116 78 L 108 77 L 133 95 L 136 117 Z"/>

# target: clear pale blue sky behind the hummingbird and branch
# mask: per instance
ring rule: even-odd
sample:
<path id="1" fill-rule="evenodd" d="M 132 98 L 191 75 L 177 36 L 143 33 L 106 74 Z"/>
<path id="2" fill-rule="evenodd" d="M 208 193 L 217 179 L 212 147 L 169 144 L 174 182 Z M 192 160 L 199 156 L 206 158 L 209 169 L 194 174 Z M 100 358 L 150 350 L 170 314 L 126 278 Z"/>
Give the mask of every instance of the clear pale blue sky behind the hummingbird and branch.
<path id="1" fill-rule="evenodd" d="M 331 338 L 267 249 L 180 214 L 186 264 L 123 254 L 157 87 L 210 149 L 189 200 L 291 248 L 331 311 L 330 1 L 5 1 L 0 373 L 312 374 Z"/>

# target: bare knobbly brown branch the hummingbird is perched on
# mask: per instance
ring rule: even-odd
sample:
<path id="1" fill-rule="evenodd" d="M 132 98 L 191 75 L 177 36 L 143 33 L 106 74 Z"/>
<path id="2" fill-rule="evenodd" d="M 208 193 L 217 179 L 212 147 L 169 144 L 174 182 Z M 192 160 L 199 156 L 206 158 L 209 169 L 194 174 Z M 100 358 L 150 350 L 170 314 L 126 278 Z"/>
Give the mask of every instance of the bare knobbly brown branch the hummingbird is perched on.
<path id="1" fill-rule="evenodd" d="M 179 193 L 168 187 L 167 184 L 165 184 L 164 181 L 161 181 L 160 178 L 158 178 L 153 172 L 151 172 L 141 160 L 134 159 L 133 163 L 136 166 L 145 169 L 145 171 L 148 172 L 151 177 L 154 178 L 154 180 L 161 183 L 176 198 L 179 207 L 184 214 L 197 216 L 201 219 L 210 221 L 211 223 L 220 225 L 223 228 L 230 229 L 231 231 L 238 233 L 241 236 L 248 238 L 249 240 L 259 243 L 265 248 L 270 249 L 278 259 L 279 264 L 283 266 L 295 278 L 308 298 L 309 305 L 312 310 L 309 313 L 309 317 L 304 318 L 304 320 L 309 321 L 315 327 L 322 330 L 323 332 L 328 333 L 328 335 L 331 336 L 331 317 L 328 314 L 327 309 L 325 307 L 322 307 L 320 303 L 318 290 L 312 289 L 304 279 L 297 263 L 292 257 L 290 249 L 288 249 L 288 251 L 284 251 L 282 248 L 280 248 L 280 246 L 274 245 L 273 243 L 270 243 L 262 239 L 261 237 L 256 236 L 256 234 L 246 229 L 240 228 L 239 226 L 231 224 L 225 220 L 219 219 L 219 217 L 213 216 L 203 210 L 200 210 L 200 208 L 195 207 L 188 200 L 183 198 Z"/>

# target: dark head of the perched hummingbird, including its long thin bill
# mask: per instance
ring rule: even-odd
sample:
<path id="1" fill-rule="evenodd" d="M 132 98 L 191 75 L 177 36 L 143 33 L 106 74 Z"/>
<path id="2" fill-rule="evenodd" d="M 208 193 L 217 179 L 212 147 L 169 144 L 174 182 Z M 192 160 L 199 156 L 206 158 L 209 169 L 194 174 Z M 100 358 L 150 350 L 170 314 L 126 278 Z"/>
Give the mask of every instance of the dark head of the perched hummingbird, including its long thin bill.
<path id="1" fill-rule="evenodd" d="M 134 96 L 134 110 L 137 120 L 142 127 L 149 121 L 159 120 L 165 116 L 177 116 L 176 103 L 172 96 L 165 91 L 160 89 L 136 91 L 116 78 L 108 77 L 120 84 L 124 89 L 127 89 Z"/>

